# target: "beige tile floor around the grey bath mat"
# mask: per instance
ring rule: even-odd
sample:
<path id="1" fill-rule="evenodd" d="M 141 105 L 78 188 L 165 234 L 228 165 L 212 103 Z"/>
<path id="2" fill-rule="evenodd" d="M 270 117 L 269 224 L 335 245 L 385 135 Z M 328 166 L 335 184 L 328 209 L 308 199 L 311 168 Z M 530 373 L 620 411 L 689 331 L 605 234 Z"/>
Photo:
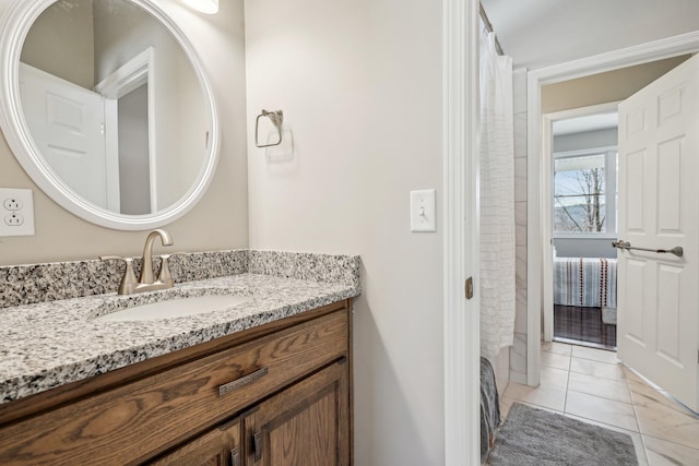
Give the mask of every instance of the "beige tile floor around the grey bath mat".
<path id="1" fill-rule="evenodd" d="M 541 385 L 510 383 L 501 395 L 503 417 L 513 402 L 626 432 L 640 465 L 699 466 L 699 416 L 624 367 L 615 353 L 543 343 Z"/>

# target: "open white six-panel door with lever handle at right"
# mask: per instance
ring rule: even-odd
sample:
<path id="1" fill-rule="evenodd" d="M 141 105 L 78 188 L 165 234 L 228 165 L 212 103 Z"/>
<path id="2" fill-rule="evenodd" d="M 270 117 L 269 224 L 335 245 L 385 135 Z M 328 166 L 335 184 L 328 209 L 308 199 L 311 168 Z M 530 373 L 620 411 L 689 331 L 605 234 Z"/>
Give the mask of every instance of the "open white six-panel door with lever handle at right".
<path id="1" fill-rule="evenodd" d="M 619 105 L 618 357 L 699 409 L 699 56 Z"/>

